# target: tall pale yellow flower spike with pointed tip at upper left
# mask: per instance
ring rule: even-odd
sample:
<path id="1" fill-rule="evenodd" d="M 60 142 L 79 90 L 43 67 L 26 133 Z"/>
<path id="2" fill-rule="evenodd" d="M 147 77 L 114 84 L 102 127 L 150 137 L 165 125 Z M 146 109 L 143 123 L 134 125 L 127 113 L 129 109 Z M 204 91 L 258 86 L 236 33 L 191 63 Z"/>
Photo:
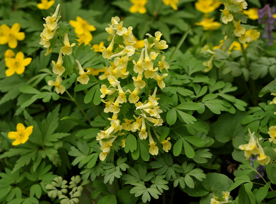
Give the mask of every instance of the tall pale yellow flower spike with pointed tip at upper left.
<path id="1" fill-rule="evenodd" d="M 46 23 L 44 23 L 44 29 L 40 33 L 40 45 L 43 45 L 43 47 L 47 48 L 47 52 L 45 55 L 48 55 L 52 49 L 50 50 L 49 47 L 51 46 L 50 40 L 54 37 L 57 28 L 57 23 L 59 21 L 59 18 L 61 16 L 57 16 L 59 12 L 59 4 L 56 7 L 56 12 L 52 16 L 48 16 L 46 18 L 43 18 Z"/>

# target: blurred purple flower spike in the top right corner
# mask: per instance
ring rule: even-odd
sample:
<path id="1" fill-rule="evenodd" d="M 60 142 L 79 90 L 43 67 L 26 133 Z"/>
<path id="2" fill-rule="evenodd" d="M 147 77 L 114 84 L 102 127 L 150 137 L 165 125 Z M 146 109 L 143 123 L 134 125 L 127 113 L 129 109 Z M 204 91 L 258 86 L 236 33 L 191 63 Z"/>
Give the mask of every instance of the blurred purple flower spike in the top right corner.
<path id="1" fill-rule="evenodd" d="M 258 9 L 258 16 L 259 20 L 258 23 L 265 23 L 266 28 L 265 32 L 263 34 L 263 38 L 267 39 L 269 38 L 269 45 L 273 44 L 273 36 L 272 36 L 272 30 L 275 29 L 275 21 L 276 19 L 273 17 L 273 14 L 275 13 L 276 8 L 275 6 L 270 7 L 269 4 L 266 4 L 262 9 Z"/>

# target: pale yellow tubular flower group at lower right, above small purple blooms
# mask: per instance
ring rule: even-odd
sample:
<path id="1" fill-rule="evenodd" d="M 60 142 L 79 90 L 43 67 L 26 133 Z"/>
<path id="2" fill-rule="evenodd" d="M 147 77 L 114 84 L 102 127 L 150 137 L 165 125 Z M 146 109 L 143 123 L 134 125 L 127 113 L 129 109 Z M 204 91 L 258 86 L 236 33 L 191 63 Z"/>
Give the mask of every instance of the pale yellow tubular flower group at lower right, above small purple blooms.
<path id="1" fill-rule="evenodd" d="M 270 157 L 265 155 L 263 147 L 260 145 L 259 142 L 260 139 L 257 138 L 256 140 L 254 137 L 255 132 L 251 133 L 250 130 L 248 131 L 250 134 L 250 140 L 248 144 L 240 145 L 239 149 L 244 150 L 244 156 L 246 157 L 246 160 L 251 157 L 251 154 L 259 154 L 257 157 L 257 162 L 261 165 L 268 164 L 270 162 Z"/>

